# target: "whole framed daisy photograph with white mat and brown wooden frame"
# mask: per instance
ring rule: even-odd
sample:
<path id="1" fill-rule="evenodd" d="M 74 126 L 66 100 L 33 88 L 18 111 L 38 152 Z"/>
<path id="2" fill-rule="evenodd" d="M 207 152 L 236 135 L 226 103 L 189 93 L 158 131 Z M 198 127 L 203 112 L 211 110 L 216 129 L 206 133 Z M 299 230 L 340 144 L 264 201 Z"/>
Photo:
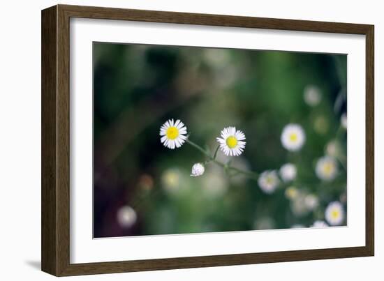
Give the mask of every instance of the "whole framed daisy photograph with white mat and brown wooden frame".
<path id="1" fill-rule="evenodd" d="M 42 153 L 52 275 L 372 256 L 374 26 L 47 8 Z"/>

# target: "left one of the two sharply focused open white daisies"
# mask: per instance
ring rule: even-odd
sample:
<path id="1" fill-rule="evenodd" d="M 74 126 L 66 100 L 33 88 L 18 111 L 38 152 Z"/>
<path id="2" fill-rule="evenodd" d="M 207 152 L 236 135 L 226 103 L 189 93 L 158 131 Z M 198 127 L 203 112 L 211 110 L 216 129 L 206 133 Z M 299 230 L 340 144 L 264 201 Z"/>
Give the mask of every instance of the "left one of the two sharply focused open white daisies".
<path id="1" fill-rule="evenodd" d="M 180 120 L 173 122 L 173 119 L 166 121 L 160 128 L 161 143 L 168 149 L 179 148 L 186 140 L 186 126 Z"/>

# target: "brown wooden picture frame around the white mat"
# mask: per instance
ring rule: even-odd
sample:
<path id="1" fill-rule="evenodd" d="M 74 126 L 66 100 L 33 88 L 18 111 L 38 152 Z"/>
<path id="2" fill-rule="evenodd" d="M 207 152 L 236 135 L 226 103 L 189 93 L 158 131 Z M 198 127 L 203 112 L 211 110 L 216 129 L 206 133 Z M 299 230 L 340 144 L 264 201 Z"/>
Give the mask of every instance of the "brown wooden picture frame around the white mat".
<path id="1" fill-rule="evenodd" d="M 70 18 L 129 20 L 366 36 L 366 243 L 363 247 L 70 263 Z M 374 255 L 374 26 L 57 5 L 42 11 L 42 270 L 56 276 L 228 266 Z"/>

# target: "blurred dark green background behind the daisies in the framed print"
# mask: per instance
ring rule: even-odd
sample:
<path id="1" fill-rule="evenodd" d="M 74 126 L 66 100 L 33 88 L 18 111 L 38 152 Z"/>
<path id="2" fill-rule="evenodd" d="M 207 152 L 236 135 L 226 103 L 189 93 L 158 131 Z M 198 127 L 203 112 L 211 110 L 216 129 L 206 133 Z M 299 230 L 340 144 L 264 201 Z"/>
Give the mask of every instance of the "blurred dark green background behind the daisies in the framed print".
<path id="1" fill-rule="evenodd" d="M 94 237 L 309 227 L 330 202 L 346 206 L 346 55 L 94 43 L 93 56 Z M 297 177 L 270 195 L 214 164 L 193 178 L 205 158 L 161 144 L 168 119 L 212 151 L 236 126 L 246 149 L 232 166 L 260 173 L 292 162 Z M 288 123 L 307 135 L 296 153 L 281 146 Z M 338 160 L 333 181 L 315 173 L 325 154 Z"/>

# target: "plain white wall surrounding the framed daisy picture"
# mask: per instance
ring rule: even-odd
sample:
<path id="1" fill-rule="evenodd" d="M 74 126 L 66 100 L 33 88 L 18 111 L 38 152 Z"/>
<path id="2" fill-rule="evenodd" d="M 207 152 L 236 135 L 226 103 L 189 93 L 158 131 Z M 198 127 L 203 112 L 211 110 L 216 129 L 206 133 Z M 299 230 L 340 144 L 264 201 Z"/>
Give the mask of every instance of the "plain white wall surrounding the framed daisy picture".
<path id="1" fill-rule="evenodd" d="M 217 2 L 217 3 L 215 3 Z M 40 10 L 57 1 L 3 1 L 0 29 L 0 277 L 54 280 L 40 272 Z M 251 266 L 119 273 L 74 280 L 383 280 L 384 17 L 381 1 L 86 0 L 61 3 L 191 13 L 375 24 L 376 256 Z M 362 159 L 364 161 L 364 159 Z M 289 243 L 289 241 L 287 241 Z"/>

